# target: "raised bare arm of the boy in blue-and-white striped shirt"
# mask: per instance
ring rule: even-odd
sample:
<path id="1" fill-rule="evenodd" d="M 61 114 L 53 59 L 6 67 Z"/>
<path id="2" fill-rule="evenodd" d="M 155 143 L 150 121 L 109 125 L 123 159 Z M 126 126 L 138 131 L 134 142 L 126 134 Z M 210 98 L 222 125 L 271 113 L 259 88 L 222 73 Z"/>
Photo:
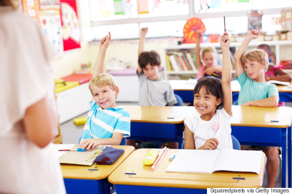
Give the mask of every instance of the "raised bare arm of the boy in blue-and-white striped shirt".
<path id="1" fill-rule="evenodd" d="M 99 74 L 102 74 L 103 72 L 103 67 L 105 66 L 106 52 L 107 52 L 108 46 L 110 45 L 110 42 L 111 42 L 111 33 L 109 32 L 109 35 L 107 35 L 106 37 L 103 37 L 100 40 L 99 52 L 98 52 L 97 59 L 94 65 L 93 78 L 95 78 Z"/>

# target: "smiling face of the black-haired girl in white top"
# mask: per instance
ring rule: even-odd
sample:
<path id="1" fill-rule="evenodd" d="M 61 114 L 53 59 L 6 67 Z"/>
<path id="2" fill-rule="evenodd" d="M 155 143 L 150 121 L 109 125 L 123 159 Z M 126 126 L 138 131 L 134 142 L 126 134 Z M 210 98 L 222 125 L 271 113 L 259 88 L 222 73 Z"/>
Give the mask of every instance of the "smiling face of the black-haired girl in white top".
<path id="1" fill-rule="evenodd" d="M 203 120 L 210 120 L 220 104 L 221 99 L 217 99 L 215 95 L 208 94 L 205 86 L 202 86 L 199 92 L 194 95 L 194 107 L 201 114 Z"/>

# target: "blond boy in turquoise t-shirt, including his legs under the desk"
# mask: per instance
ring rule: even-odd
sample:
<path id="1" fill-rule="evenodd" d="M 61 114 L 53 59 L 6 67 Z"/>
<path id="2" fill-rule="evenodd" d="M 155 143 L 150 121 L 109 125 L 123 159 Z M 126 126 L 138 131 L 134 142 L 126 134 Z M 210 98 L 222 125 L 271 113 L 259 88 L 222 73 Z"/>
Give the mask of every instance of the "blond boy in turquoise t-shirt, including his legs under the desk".
<path id="1" fill-rule="evenodd" d="M 244 54 L 248 43 L 258 38 L 260 33 L 251 30 L 247 33 L 240 47 L 234 54 L 237 80 L 240 84 L 238 105 L 276 107 L 279 104 L 279 93 L 275 84 L 267 83 L 265 71 L 268 67 L 268 56 L 261 49 L 251 50 Z M 267 187 L 275 187 L 279 165 L 279 151 L 276 147 L 242 146 L 244 150 L 262 150 L 267 157 Z"/>

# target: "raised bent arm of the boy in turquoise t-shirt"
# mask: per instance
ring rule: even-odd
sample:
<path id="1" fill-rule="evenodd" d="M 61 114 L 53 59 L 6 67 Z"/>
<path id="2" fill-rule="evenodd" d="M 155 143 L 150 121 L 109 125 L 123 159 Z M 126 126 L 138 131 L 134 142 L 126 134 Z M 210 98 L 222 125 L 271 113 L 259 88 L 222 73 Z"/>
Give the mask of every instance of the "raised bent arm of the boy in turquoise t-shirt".
<path id="1" fill-rule="evenodd" d="M 243 71 L 243 64 L 241 62 L 241 58 L 243 54 L 246 51 L 246 48 L 248 46 L 248 43 L 251 42 L 252 39 L 258 38 L 260 33 L 257 30 L 250 30 L 244 40 L 242 41 L 241 45 L 239 46 L 238 50 L 234 54 L 234 63 L 235 63 L 235 70 L 236 70 L 236 75 L 239 77 Z"/>

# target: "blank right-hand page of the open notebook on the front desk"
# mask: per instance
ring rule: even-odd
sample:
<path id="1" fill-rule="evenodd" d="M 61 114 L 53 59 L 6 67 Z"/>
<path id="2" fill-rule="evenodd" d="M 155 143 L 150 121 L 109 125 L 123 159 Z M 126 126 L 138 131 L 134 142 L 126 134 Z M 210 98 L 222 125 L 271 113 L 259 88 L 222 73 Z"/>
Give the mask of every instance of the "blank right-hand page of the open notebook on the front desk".
<path id="1" fill-rule="evenodd" d="M 261 159 L 262 151 L 222 149 L 213 170 L 260 174 Z"/>

